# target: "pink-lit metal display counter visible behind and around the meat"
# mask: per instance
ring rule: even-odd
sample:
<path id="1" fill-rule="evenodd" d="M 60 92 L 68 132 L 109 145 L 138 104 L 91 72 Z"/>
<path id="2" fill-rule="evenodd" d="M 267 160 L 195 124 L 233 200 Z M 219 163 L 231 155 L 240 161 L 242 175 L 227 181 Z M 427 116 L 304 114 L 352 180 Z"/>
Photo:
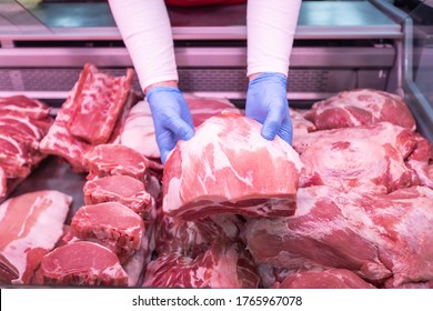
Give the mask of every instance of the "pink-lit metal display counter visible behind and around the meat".
<path id="1" fill-rule="evenodd" d="M 131 67 L 107 3 L 7 1 L 0 10 L 6 17 L 0 20 L 0 96 L 27 94 L 58 108 L 84 63 L 113 74 Z M 192 21 L 187 9 L 170 8 L 181 89 L 242 107 L 245 7 L 193 10 Z M 406 99 L 420 132 L 432 140 L 432 102 L 425 86 L 432 63 L 430 31 L 419 29 L 410 14 L 389 1 L 304 1 L 291 57 L 291 107 L 308 108 L 343 89 L 386 90 Z M 139 90 L 137 79 L 134 88 Z M 51 157 L 13 195 L 47 187 L 71 193 L 69 222 L 83 204 L 84 182 L 84 175 Z"/>

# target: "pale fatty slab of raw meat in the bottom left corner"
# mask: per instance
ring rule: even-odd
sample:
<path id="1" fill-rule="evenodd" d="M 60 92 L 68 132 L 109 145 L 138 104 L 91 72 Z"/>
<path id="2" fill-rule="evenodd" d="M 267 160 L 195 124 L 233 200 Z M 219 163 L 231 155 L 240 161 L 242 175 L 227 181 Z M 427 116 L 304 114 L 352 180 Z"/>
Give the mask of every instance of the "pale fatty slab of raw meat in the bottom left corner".
<path id="1" fill-rule="evenodd" d="M 36 191 L 0 205 L 0 253 L 18 271 L 12 283 L 29 283 L 42 257 L 62 235 L 71 202 L 71 197 L 58 191 Z"/>

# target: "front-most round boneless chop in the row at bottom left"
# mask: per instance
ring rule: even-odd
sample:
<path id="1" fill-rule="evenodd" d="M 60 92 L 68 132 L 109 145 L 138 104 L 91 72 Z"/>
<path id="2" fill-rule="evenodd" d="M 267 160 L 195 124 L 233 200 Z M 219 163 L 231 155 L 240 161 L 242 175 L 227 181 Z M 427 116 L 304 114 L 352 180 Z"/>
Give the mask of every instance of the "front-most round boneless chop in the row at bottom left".
<path id="1" fill-rule="evenodd" d="M 41 262 L 44 284 L 127 287 L 128 274 L 109 249 L 88 241 L 59 247 Z"/>

